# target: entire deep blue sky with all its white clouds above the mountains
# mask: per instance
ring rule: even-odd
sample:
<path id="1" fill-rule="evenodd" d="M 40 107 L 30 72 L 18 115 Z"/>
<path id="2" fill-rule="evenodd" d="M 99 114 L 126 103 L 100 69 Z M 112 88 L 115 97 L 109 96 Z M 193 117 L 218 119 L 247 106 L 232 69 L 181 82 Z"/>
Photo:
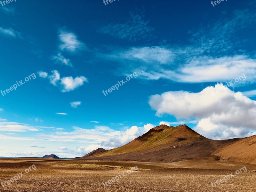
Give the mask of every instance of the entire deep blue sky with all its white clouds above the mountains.
<path id="1" fill-rule="evenodd" d="M 82 156 L 159 124 L 211 139 L 256 134 L 255 5 L 0 5 L 0 156 Z"/>

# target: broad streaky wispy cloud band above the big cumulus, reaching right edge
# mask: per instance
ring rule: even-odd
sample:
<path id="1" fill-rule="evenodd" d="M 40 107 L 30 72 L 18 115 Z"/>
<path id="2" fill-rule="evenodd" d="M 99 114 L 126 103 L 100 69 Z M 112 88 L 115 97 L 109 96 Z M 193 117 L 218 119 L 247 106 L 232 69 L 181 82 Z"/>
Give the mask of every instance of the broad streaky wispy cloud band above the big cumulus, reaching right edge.
<path id="1" fill-rule="evenodd" d="M 251 30 L 255 19 L 253 11 L 236 11 L 195 32 L 190 31 L 190 44 L 120 48 L 101 56 L 119 63 L 118 73 L 136 71 L 140 78 L 147 80 L 216 83 L 245 74 L 246 81 L 254 83 L 256 58 L 253 53 L 237 49 L 245 41 L 238 41 L 236 35 L 237 30 Z"/>

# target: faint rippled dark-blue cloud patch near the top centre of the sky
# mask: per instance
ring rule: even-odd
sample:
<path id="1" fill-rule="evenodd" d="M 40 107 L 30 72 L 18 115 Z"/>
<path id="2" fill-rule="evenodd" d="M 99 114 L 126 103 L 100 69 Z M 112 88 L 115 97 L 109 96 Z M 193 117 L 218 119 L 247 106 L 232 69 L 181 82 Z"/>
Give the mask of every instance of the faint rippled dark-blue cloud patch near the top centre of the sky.
<path id="1" fill-rule="evenodd" d="M 136 41 L 140 39 L 150 39 L 153 28 L 148 26 L 149 21 L 144 20 L 144 16 L 130 12 L 130 18 L 125 23 L 110 23 L 103 26 L 100 32 L 120 39 Z"/>

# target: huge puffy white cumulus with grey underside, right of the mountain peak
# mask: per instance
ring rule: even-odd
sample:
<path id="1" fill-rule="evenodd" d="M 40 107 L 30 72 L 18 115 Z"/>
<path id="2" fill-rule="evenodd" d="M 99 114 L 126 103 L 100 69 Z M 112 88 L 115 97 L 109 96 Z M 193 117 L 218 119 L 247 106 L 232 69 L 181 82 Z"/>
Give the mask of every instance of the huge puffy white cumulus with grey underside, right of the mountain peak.
<path id="1" fill-rule="evenodd" d="M 196 130 L 204 134 L 208 132 L 210 138 L 252 134 L 251 130 L 256 128 L 256 101 L 230 89 L 212 94 L 221 88 L 222 84 L 216 84 L 197 93 L 164 92 L 150 96 L 149 105 L 156 110 L 157 116 L 170 114 L 178 119 L 198 120 Z"/>

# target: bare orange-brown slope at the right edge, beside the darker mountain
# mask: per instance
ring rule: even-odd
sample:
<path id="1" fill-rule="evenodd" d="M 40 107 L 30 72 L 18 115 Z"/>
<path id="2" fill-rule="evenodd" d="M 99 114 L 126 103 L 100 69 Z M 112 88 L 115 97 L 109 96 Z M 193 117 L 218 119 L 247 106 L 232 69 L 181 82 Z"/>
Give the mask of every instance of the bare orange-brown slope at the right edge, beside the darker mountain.
<path id="1" fill-rule="evenodd" d="M 256 135 L 239 139 L 216 150 L 213 154 L 220 156 L 223 161 L 256 164 Z"/>

